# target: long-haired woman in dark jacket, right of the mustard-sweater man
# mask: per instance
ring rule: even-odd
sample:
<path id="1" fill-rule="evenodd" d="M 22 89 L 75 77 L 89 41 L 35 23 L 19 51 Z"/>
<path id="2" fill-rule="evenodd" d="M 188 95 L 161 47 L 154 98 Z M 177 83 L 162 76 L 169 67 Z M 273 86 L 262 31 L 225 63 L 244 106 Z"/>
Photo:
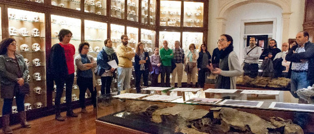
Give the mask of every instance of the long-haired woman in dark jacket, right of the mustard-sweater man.
<path id="1" fill-rule="evenodd" d="M 148 73 L 149 73 L 149 54 L 144 50 L 144 44 L 139 42 L 136 47 L 136 54 L 134 57 L 134 69 L 135 69 L 135 87 L 136 92 L 141 92 L 140 81 L 143 75 L 144 86 L 148 86 Z"/>

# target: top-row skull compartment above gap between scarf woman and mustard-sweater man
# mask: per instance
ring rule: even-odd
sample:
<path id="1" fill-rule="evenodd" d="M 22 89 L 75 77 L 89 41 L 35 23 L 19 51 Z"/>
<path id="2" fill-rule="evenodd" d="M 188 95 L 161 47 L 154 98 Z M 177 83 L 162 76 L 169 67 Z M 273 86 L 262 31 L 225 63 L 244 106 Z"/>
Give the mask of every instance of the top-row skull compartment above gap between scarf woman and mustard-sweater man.
<path id="1" fill-rule="evenodd" d="M 111 17 L 124 19 L 124 0 L 111 0 Z"/>

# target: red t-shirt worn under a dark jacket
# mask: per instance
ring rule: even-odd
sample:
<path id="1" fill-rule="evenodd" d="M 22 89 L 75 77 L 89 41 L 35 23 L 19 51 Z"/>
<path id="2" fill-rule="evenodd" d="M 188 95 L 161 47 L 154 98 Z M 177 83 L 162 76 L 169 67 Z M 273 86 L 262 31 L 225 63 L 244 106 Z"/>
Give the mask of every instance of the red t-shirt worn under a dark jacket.
<path id="1" fill-rule="evenodd" d="M 61 47 L 64 49 L 65 59 L 67 61 L 68 66 L 68 74 L 73 74 L 74 70 L 74 54 L 75 54 L 75 47 L 72 44 L 63 45 L 59 43 Z"/>

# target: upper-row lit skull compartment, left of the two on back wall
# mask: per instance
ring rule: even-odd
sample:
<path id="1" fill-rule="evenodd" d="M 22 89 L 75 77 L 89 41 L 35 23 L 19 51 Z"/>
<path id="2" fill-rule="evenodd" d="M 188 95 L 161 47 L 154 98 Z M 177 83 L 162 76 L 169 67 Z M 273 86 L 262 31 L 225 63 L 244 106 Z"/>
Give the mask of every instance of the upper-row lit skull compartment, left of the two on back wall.
<path id="1" fill-rule="evenodd" d="M 160 0 L 160 26 L 180 27 L 181 2 Z"/>

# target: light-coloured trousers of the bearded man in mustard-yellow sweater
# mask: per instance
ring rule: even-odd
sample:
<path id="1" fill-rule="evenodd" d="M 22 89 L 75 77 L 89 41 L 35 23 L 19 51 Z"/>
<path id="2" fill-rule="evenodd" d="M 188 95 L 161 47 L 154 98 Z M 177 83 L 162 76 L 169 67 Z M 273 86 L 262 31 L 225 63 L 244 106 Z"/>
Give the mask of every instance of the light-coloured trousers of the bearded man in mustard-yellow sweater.
<path id="1" fill-rule="evenodd" d="M 118 91 L 130 89 L 132 67 L 118 67 Z"/>

